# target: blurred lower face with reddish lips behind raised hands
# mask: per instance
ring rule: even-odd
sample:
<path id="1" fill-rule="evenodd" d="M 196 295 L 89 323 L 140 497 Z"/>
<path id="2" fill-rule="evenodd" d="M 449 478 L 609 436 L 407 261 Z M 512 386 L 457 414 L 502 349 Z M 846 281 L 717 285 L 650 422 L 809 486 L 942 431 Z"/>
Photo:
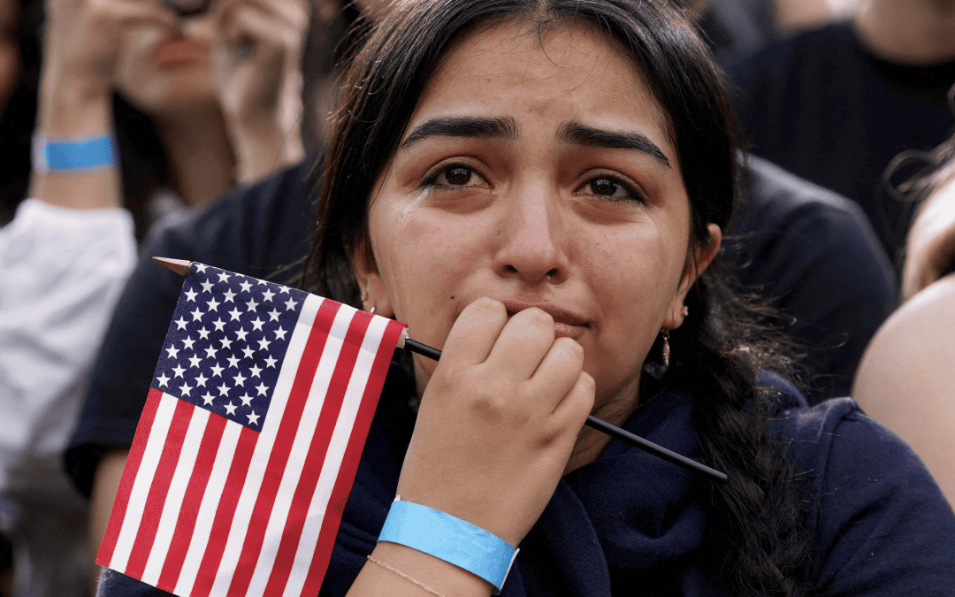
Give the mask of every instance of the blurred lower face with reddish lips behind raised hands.
<path id="1" fill-rule="evenodd" d="M 210 64 L 215 18 L 215 11 L 206 11 L 180 19 L 179 31 L 158 24 L 126 29 L 117 64 L 122 95 L 151 116 L 216 104 Z"/>

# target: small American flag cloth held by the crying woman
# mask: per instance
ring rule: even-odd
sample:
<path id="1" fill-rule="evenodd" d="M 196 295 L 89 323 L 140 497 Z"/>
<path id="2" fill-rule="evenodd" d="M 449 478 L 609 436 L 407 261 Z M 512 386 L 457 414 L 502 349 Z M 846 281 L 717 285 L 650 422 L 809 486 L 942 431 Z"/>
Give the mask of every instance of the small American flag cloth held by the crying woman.
<path id="1" fill-rule="evenodd" d="M 193 263 L 96 563 L 317 595 L 404 324 Z"/>

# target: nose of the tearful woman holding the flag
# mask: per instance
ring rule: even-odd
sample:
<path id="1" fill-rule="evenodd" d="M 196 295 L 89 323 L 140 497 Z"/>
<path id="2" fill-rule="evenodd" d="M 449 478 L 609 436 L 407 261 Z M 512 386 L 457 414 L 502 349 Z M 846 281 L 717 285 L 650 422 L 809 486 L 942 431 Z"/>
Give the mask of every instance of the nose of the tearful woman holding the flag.
<path id="1" fill-rule="evenodd" d="M 499 275 L 539 284 L 561 284 L 567 278 L 568 241 L 557 205 L 540 192 L 507 201 L 500 230 L 502 243 L 495 267 Z"/>

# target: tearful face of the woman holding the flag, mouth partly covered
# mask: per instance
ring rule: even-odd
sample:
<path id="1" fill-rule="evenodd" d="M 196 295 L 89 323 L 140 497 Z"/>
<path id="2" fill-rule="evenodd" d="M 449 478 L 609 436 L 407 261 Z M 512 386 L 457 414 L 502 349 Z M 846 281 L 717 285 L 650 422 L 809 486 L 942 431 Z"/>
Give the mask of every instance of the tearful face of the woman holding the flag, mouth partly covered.
<path id="1" fill-rule="evenodd" d="M 457 43 L 374 186 L 376 270 L 354 260 L 366 305 L 437 348 L 482 296 L 549 312 L 584 348 L 595 414 L 611 419 L 635 406 L 692 281 L 667 117 L 624 55 L 589 29 L 541 42 L 523 24 Z M 416 361 L 419 391 L 434 367 Z"/>

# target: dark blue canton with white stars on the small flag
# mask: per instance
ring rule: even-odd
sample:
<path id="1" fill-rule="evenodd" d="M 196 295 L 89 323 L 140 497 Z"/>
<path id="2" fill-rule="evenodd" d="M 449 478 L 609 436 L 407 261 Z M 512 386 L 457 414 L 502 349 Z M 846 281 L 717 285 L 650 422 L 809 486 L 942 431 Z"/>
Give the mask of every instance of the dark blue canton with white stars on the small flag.
<path id="1" fill-rule="evenodd" d="M 154 387 L 261 431 L 308 294 L 193 263 Z"/>

